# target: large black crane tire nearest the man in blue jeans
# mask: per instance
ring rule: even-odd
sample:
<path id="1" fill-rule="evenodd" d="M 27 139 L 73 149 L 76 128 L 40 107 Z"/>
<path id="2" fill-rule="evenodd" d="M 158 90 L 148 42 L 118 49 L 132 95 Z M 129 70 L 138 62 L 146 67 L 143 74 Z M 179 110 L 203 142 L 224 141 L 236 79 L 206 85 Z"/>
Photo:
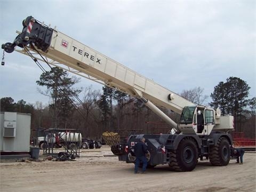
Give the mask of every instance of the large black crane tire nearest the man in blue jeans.
<path id="1" fill-rule="evenodd" d="M 198 150 L 192 138 L 184 138 L 180 141 L 178 149 L 170 153 L 170 169 L 173 171 L 192 171 L 195 169 Z"/>

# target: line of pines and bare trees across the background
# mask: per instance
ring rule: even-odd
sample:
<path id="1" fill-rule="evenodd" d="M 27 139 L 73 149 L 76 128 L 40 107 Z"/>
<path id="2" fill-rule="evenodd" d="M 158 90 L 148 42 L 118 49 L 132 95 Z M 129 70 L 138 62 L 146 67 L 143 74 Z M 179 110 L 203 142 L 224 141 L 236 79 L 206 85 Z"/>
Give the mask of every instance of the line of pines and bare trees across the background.
<path id="1" fill-rule="evenodd" d="M 98 138 L 106 131 L 118 132 L 125 137 L 133 133 L 167 133 L 171 130 L 139 99 L 108 86 L 103 86 L 102 91 L 93 90 L 92 86 L 77 88 L 78 82 L 79 78 L 53 67 L 36 81 L 39 86 L 46 86 L 46 91 L 38 91 L 51 98 L 49 105 L 43 106 L 39 101 L 32 105 L 23 100 L 16 103 L 9 97 L 1 99 L 1 111 L 30 113 L 33 137 L 38 136 L 38 129 L 50 127 L 77 129 L 83 137 L 91 138 Z M 222 115 L 234 116 L 236 132 L 255 137 L 256 98 L 248 98 L 249 90 L 250 86 L 242 79 L 229 77 L 227 82 L 219 82 L 214 87 L 210 103 L 206 103 L 209 96 L 203 94 L 201 87 L 183 90 L 180 95 L 198 105 L 219 107 Z M 79 99 L 81 92 L 83 98 Z M 175 122 L 179 121 L 178 114 L 165 108 L 161 110 Z"/>

